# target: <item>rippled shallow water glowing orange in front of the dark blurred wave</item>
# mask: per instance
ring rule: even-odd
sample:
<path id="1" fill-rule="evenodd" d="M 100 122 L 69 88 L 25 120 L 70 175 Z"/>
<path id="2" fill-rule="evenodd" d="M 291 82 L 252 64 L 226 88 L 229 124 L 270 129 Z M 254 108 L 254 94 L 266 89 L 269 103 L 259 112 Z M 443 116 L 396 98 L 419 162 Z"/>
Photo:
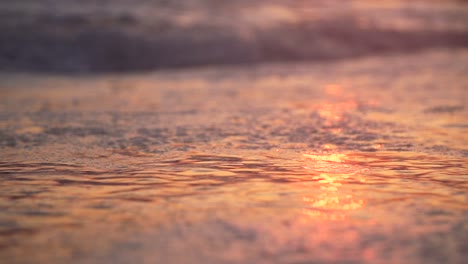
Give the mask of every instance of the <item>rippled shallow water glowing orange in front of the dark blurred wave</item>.
<path id="1" fill-rule="evenodd" d="M 3 75 L 0 257 L 462 263 L 467 61 Z"/>

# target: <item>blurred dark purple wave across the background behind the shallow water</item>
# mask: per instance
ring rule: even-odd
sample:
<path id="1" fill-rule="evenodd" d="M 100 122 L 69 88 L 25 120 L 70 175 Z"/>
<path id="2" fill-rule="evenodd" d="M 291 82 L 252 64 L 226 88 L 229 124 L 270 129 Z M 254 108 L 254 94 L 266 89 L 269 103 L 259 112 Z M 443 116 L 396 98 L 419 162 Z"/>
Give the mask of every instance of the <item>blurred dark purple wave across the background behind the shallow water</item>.
<path id="1" fill-rule="evenodd" d="M 116 72 L 468 46 L 466 1 L 0 2 L 0 70 Z"/>

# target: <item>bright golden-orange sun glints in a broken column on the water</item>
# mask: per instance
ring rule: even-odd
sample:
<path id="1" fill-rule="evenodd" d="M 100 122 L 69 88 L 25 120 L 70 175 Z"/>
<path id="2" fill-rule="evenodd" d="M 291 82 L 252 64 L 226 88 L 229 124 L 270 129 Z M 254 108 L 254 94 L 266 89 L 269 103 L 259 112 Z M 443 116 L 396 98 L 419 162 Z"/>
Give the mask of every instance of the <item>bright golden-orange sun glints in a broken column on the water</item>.
<path id="1" fill-rule="evenodd" d="M 339 84 L 328 84 L 324 92 L 338 102 L 326 102 L 319 105 L 317 111 L 319 116 L 327 125 L 336 125 L 341 122 L 347 112 L 357 109 L 358 103 L 353 96 L 346 94 L 346 90 Z M 334 128 L 332 133 L 341 133 L 340 127 Z M 382 147 L 376 144 L 375 149 Z M 314 176 L 312 179 L 319 184 L 321 193 L 318 195 L 304 195 L 302 201 L 307 205 L 302 213 L 308 217 L 330 221 L 343 221 L 350 211 L 358 210 L 365 204 L 363 199 L 353 197 L 352 194 L 343 191 L 343 184 L 349 178 L 356 179 L 358 174 L 366 169 L 356 166 L 352 158 L 347 154 L 334 152 L 336 146 L 323 145 L 326 152 L 304 153 L 304 168 Z M 365 182 L 360 179 L 360 182 Z"/>

